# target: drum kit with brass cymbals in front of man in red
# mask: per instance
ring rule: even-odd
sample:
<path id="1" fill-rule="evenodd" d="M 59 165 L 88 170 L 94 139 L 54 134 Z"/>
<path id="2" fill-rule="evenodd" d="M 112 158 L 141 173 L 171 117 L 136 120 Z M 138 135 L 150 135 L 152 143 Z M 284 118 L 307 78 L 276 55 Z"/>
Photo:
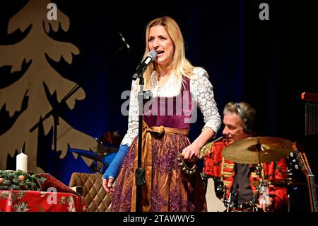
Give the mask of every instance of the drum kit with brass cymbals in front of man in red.
<path id="1" fill-rule="evenodd" d="M 228 145 L 223 149 L 223 157 L 232 162 L 240 164 L 257 164 L 256 174 L 259 176 L 259 181 L 254 183 L 257 187 L 258 193 L 252 200 L 244 204 L 233 203 L 231 200 L 231 194 L 229 198 L 226 198 L 225 186 L 223 203 L 228 212 L 258 212 L 262 211 L 257 208 L 257 202 L 259 198 L 266 198 L 266 191 L 269 186 L 283 186 L 283 187 L 294 187 L 294 186 L 307 186 L 306 183 L 302 183 L 292 178 L 287 179 L 272 179 L 266 180 L 261 174 L 262 166 L 261 163 L 273 162 L 276 160 L 288 157 L 290 152 L 293 152 L 293 142 L 285 140 L 279 137 L 249 137 L 243 140 L 238 140 Z M 268 197 L 268 193 L 267 193 Z M 268 203 L 266 203 L 266 207 Z"/>

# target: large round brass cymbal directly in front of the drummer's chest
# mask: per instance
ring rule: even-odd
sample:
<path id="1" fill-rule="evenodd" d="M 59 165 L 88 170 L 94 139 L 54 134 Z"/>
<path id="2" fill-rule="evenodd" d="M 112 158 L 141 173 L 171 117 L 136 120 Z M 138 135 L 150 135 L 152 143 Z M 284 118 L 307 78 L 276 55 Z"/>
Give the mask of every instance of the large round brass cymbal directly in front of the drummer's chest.
<path id="1" fill-rule="evenodd" d="M 260 152 L 257 146 L 260 145 Z M 293 142 L 279 137 L 249 137 L 237 140 L 223 149 L 225 159 L 242 164 L 258 164 L 283 159 L 293 152 Z"/>

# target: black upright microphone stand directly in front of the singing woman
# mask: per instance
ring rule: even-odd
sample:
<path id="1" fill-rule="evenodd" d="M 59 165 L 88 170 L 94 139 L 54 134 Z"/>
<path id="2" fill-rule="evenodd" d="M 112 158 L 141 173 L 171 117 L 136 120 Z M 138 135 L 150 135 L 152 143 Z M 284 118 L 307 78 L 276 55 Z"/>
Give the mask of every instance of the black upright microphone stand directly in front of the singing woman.
<path id="1" fill-rule="evenodd" d="M 141 186 L 146 184 L 145 169 L 141 168 L 141 150 L 142 150 L 142 130 L 143 130 L 143 100 L 151 99 L 151 91 L 143 91 L 143 72 L 136 76 L 134 74 L 133 80 L 139 78 L 139 92 L 138 92 L 138 105 L 139 105 L 139 123 L 138 123 L 138 151 L 137 151 L 137 169 L 136 176 L 136 212 L 141 212 Z"/>

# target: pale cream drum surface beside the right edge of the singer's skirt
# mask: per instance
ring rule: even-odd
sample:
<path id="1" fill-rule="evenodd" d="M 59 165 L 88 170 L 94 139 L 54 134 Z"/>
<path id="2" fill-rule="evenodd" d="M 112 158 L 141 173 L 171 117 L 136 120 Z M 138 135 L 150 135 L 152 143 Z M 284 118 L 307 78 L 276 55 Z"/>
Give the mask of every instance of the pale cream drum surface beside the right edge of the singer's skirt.
<path id="1" fill-rule="evenodd" d="M 223 201 L 216 196 L 215 183 L 212 177 L 207 179 L 206 204 L 208 205 L 208 212 L 224 212 L 226 210 Z"/>

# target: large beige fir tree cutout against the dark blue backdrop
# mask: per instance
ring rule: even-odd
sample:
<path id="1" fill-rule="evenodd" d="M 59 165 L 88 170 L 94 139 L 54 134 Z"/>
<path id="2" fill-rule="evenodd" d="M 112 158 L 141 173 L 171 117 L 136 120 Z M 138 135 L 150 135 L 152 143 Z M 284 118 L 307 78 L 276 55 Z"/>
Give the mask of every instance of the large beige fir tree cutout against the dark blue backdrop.
<path id="1" fill-rule="evenodd" d="M 78 48 L 66 42 L 53 40 L 47 35 L 52 28 L 57 32 L 60 28 L 65 32 L 69 30 L 69 18 L 57 11 L 57 21 L 47 19 L 48 0 L 30 0 L 14 15 L 8 23 L 8 34 L 20 29 L 22 32 L 32 26 L 28 35 L 14 45 L 0 45 L 0 67 L 11 66 L 11 73 L 21 70 L 24 60 L 30 63 L 28 70 L 18 81 L 0 89 L 0 109 L 5 108 L 10 117 L 16 111 L 20 111 L 23 98 L 28 96 L 28 108 L 23 111 L 13 126 L 0 136 L 0 169 L 6 169 L 7 153 L 13 157 L 16 150 L 25 145 L 25 154 L 28 155 L 28 170 L 42 172 L 36 165 L 38 130 L 30 132 L 40 117 L 52 110 L 47 100 L 44 83 L 50 94 L 56 91 L 57 101 L 61 101 L 76 84 L 62 77 L 47 62 L 45 55 L 58 62 L 61 57 L 71 64 L 72 56 L 78 55 Z M 30 62 L 31 60 L 31 62 Z M 67 106 L 73 109 L 76 100 L 86 98 L 85 91 L 78 89 L 67 101 Z M 43 123 L 45 135 L 53 128 L 54 120 L 51 117 Z M 52 142 L 53 144 L 53 142 Z M 68 151 L 68 145 L 76 149 L 94 149 L 95 139 L 85 133 L 75 130 L 62 118 L 59 118 L 57 130 L 57 151 L 61 151 L 60 158 L 64 158 Z M 39 150 L 44 151 L 44 150 Z M 86 164 L 90 159 L 83 158 Z"/>

